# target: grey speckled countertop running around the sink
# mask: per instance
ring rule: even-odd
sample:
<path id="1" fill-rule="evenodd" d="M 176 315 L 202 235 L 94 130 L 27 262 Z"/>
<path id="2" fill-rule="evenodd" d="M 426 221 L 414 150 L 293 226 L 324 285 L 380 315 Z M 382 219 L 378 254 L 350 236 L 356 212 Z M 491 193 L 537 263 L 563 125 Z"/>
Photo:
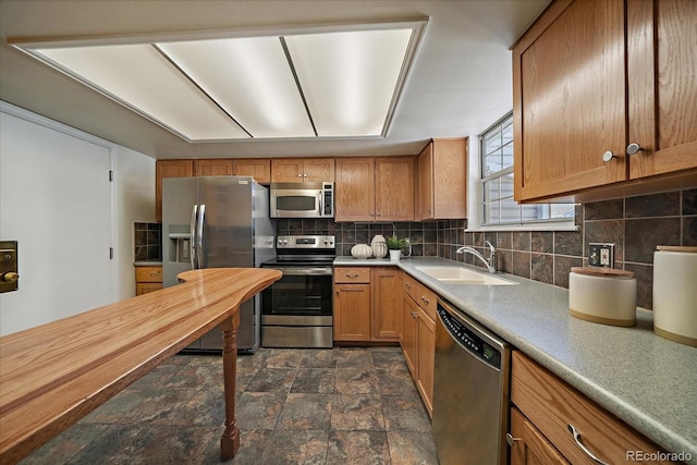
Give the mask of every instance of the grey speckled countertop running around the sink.
<path id="1" fill-rule="evenodd" d="M 401 268 L 657 444 L 689 453 L 687 462 L 697 464 L 697 348 L 656 335 L 651 311 L 637 309 L 633 328 L 594 323 L 568 315 L 566 289 L 503 273 L 498 276 L 517 285 L 444 284 L 416 269 L 424 265 L 474 268 L 436 257 L 334 261 Z"/>

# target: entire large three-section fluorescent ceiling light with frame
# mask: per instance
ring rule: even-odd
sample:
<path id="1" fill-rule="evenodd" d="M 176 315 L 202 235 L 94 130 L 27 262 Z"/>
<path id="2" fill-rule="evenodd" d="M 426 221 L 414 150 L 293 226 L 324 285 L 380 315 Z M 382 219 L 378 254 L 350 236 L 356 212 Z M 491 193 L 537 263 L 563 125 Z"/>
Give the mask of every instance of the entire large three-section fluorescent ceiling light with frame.
<path id="1" fill-rule="evenodd" d="M 189 142 L 374 137 L 420 27 L 19 47 Z"/>

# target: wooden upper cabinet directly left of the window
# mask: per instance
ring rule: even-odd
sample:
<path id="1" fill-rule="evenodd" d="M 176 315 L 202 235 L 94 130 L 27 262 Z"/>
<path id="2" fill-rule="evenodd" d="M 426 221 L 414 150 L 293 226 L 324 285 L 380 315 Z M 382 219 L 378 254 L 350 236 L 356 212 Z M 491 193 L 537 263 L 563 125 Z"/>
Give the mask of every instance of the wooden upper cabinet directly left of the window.
<path id="1" fill-rule="evenodd" d="M 467 218 L 467 137 L 432 139 L 416 164 L 416 220 Z"/>

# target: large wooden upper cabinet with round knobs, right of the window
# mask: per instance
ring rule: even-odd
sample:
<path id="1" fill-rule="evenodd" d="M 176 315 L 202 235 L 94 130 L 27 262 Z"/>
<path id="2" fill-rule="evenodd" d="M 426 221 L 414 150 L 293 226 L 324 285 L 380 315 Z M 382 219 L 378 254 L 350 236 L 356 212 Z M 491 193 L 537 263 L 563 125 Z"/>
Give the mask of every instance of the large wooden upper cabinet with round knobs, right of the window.
<path id="1" fill-rule="evenodd" d="M 552 2 L 513 47 L 515 198 L 696 184 L 696 21 L 694 0 Z"/>

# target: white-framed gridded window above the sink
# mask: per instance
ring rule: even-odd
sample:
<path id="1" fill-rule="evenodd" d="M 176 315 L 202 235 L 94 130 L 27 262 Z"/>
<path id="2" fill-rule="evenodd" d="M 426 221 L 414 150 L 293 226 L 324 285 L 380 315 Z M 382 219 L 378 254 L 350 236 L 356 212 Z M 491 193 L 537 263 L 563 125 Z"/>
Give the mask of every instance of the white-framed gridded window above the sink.
<path id="1" fill-rule="evenodd" d="M 574 219 L 574 204 L 526 204 L 513 199 L 513 113 L 479 136 L 482 225 Z"/>

